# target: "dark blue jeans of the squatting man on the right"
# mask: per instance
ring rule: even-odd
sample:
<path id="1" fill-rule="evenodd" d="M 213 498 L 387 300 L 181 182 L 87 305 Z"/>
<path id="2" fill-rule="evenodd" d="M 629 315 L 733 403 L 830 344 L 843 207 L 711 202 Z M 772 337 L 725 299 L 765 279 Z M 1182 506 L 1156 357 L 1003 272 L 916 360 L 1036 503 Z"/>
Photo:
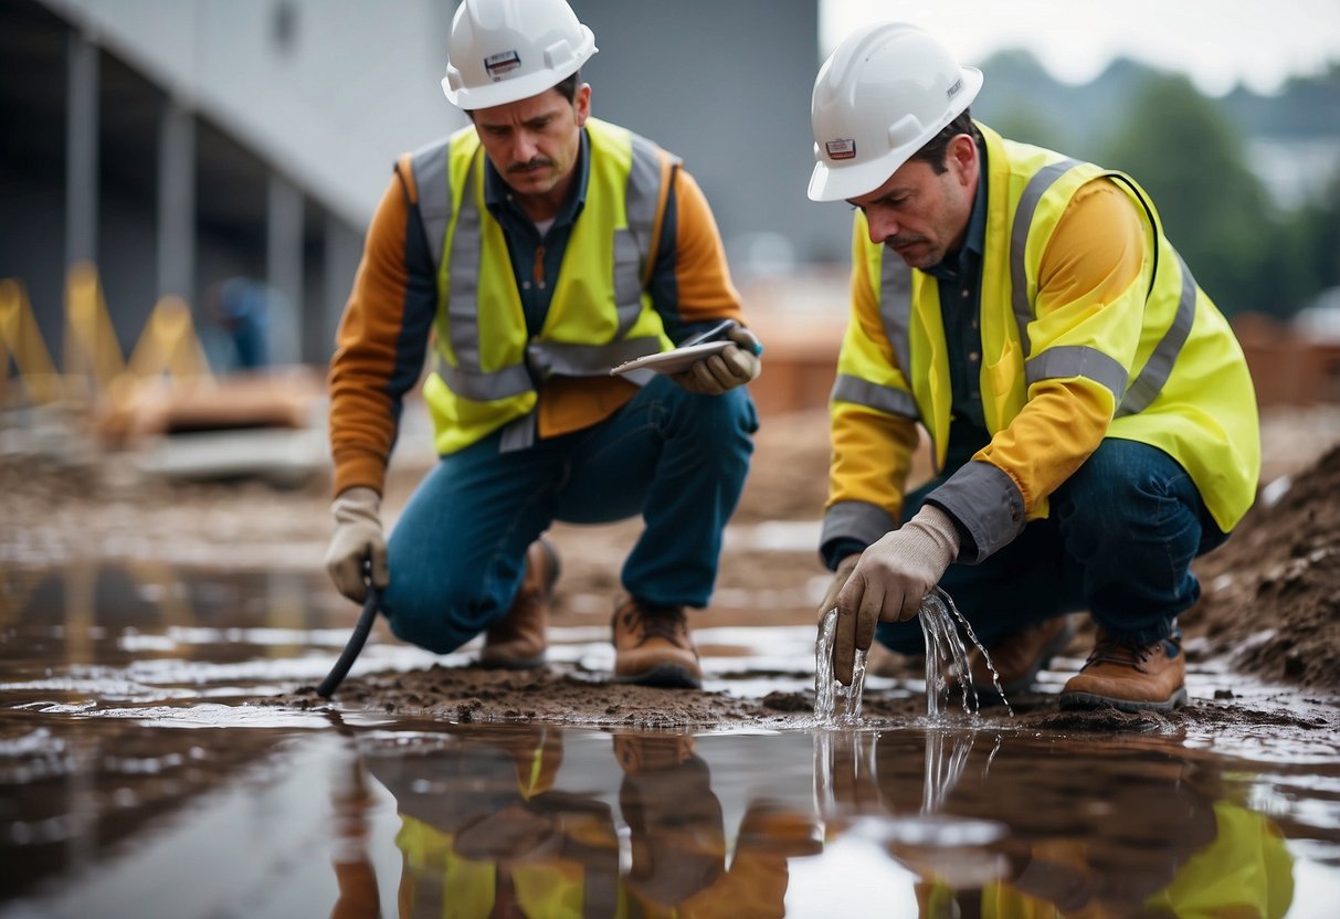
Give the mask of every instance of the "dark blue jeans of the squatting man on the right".
<path id="1" fill-rule="evenodd" d="M 904 520 L 941 481 L 909 494 Z M 981 564 L 950 565 L 939 585 L 985 647 L 1085 610 L 1107 634 L 1147 644 L 1201 596 L 1191 560 L 1226 539 L 1172 457 L 1108 438 L 1052 494 L 1049 517 Z M 895 651 L 925 651 L 918 619 L 880 623 L 875 635 Z"/>

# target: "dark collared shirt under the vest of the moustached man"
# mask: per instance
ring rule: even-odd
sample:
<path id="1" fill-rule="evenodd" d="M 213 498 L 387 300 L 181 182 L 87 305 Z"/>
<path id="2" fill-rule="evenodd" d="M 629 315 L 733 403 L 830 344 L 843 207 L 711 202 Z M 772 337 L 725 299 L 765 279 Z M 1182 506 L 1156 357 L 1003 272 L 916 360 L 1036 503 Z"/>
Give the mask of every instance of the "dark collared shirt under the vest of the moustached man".
<path id="1" fill-rule="evenodd" d="M 591 177 L 591 145 L 587 133 L 582 131 L 582 145 L 578 162 L 574 166 L 572 188 L 553 216 L 553 225 L 541 237 L 540 230 L 516 201 L 516 193 L 484 157 L 484 206 L 503 226 L 507 237 L 508 255 L 512 257 L 512 272 L 516 275 L 516 289 L 521 295 L 521 311 L 525 313 L 528 336 L 540 334 L 544 317 L 549 315 L 549 301 L 553 299 L 553 284 L 559 277 L 559 265 L 572 237 L 572 224 L 586 206 L 587 184 Z"/>

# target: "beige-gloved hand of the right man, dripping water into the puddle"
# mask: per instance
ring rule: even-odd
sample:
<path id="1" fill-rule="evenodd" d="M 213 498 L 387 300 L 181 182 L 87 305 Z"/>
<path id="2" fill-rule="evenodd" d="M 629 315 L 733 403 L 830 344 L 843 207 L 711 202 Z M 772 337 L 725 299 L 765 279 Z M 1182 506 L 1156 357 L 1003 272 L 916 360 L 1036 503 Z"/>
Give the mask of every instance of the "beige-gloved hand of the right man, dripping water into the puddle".
<path id="1" fill-rule="evenodd" d="M 926 504 L 906 524 L 867 548 L 838 591 L 833 674 L 851 686 L 856 650 L 868 651 L 880 622 L 911 619 L 958 556 L 958 531 L 939 508 Z"/>

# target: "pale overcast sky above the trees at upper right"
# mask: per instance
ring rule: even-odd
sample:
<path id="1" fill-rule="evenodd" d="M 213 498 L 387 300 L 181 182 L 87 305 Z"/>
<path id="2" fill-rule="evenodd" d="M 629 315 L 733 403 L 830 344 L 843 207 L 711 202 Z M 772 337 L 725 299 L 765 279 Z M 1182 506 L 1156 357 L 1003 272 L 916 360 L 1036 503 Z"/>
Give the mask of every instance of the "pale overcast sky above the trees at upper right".
<path id="1" fill-rule="evenodd" d="M 1186 72 L 1207 94 L 1238 82 L 1273 92 L 1340 60 L 1337 0 L 820 0 L 823 56 L 863 23 L 903 19 L 978 64 L 1026 47 L 1057 79 L 1083 83 L 1118 55 Z"/>

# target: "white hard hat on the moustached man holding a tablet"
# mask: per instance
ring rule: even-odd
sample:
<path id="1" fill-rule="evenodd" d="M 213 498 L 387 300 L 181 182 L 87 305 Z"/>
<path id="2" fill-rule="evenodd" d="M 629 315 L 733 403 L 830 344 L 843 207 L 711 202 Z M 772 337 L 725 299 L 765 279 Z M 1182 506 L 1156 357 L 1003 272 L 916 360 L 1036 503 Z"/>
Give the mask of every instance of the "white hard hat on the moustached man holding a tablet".
<path id="1" fill-rule="evenodd" d="M 465 0 L 452 17 L 442 91 L 465 110 L 557 86 L 596 52 L 564 0 Z"/>

